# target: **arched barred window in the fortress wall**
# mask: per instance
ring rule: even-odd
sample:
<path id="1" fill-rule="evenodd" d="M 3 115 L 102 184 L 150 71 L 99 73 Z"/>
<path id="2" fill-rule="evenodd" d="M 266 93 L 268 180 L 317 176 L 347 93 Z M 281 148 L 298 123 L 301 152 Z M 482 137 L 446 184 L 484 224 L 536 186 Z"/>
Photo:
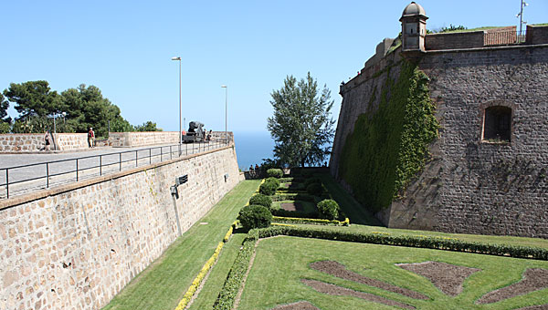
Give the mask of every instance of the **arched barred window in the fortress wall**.
<path id="1" fill-rule="evenodd" d="M 510 142 L 511 109 L 507 107 L 490 107 L 485 109 L 483 119 L 483 140 L 493 142 Z"/>

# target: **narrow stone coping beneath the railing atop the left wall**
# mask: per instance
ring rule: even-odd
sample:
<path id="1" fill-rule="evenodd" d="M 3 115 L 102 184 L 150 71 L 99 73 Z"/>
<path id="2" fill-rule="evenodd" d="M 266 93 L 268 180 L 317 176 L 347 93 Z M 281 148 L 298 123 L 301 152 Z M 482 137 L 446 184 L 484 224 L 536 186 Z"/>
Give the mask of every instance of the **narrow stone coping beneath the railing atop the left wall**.
<path id="1" fill-rule="evenodd" d="M 101 182 L 104 182 L 104 181 L 111 181 L 111 180 L 114 180 L 114 179 L 119 179 L 121 177 L 130 175 L 130 174 L 138 173 L 138 172 L 141 172 L 141 171 L 147 171 L 147 170 L 154 169 L 154 168 L 157 168 L 157 167 L 162 167 L 162 166 L 169 165 L 169 164 L 177 162 L 177 161 L 189 160 L 189 159 L 192 159 L 192 158 L 195 158 L 195 157 L 198 157 L 198 156 L 214 153 L 216 151 L 227 150 L 227 149 L 230 149 L 230 148 L 233 148 L 233 147 L 234 147 L 234 144 L 229 144 L 226 147 L 222 147 L 222 148 L 219 148 L 219 149 L 216 149 L 216 150 L 206 150 L 205 152 L 202 152 L 202 153 L 191 154 L 191 155 L 187 155 L 187 156 L 180 157 L 180 158 L 173 159 L 173 160 L 165 160 L 165 161 L 162 161 L 162 162 L 156 162 L 156 163 L 153 163 L 153 164 L 150 164 L 150 165 L 133 168 L 133 169 L 127 170 L 127 171 L 119 171 L 119 172 L 115 172 L 115 173 L 112 173 L 112 174 L 95 177 L 95 178 L 92 178 L 92 179 L 89 179 L 89 180 L 75 181 L 75 182 L 72 182 L 72 183 L 69 183 L 69 184 L 59 185 L 58 187 L 51 188 L 51 189 L 29 192 L 29 193 L 26 193 L 26 194 L 22 194 L 20 196 L 16 196 L 16 197 L 13 197 L 13 198 L 1 200 L 0 201 L 0 210 L 9 209 L 9 208 L 15 207 L 19 204 L 23 204 L 23 203 L 26 203 L 26 202 L 32 202 L 32 201 L 36 201 L 38 199 L 46 198 L 47 196 L 58 195 L 60 193 L 66 192 L 66 191 L 74 191 L 74 190 L 77 190 L 79 188 L 83 188 L 83 187 L 90 186 L 90 185 L 93 185 L 93 184 L 101 183 Z"/>

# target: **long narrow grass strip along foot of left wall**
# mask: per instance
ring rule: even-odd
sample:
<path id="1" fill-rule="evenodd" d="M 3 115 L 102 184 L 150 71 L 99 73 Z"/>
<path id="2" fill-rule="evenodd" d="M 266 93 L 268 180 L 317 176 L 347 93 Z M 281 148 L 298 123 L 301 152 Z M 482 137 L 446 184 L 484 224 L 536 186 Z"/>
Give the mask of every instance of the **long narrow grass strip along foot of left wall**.
<path id="1" fill-rule="evenodd" d="M 191 227 L 103 309 L 174 309 L 259 182 L 240 182 L 200 221 L 207 225 Z"/>

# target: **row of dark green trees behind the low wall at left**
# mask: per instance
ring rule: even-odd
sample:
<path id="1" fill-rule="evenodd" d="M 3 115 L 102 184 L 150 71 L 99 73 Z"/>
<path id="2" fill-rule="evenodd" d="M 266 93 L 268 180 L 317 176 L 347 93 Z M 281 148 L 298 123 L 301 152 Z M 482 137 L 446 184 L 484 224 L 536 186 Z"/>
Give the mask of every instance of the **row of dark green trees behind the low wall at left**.
<path id="1" fill-rule="evenodd" d="M 16 119 L 7 117 L 10 102 L 19 112 Z M 39 80 L 11 83 L 0 93 L 0 133 L 53 130 L 54 117 L 57 132 L 87 132 L 92 127 L 97 137 L 106 137 L 109 126 L 112 132 L 162 130 L 152 121 L 133 126 L 121 117 L 120 108 L 103 98 L 93 85 L 80 84 L 58 94 L 47 81 Z"/>

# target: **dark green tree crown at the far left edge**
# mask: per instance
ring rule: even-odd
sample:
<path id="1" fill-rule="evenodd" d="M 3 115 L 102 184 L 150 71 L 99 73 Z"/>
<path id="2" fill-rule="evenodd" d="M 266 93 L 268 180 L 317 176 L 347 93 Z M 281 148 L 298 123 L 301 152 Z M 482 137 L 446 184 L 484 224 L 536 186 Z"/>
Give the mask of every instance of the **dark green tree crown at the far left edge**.
<path id="1" fill-rule="evenodd" d="M 49 114 L 64 110 L 57 91 L 51 91 L 47 81 L 11 83 L 4 90 L 4 95 L 9 101 L 16 103 L 15 109 L 20 113 L 18 119 L 28 116 L 46 118 Z"/>

